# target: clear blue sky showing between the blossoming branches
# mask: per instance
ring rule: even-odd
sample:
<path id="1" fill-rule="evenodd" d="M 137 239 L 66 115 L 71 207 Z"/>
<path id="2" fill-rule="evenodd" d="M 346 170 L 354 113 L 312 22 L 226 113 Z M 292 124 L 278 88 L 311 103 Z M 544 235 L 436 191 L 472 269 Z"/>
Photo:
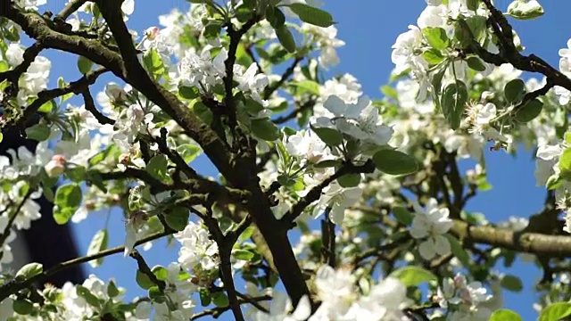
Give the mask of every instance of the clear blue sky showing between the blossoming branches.
<path id="1" fill-rule="evenodd" d="M 61 8 L 62 0 L 50 1 L 50 9 Z M 509 0 L 497 0 L 496 4 L 505 9 Z M 514 27 L 522 38 L 526 53 L 540 55 L 553 66 L 559 65 L 558 50 L 565 47 L 571 33 L 566 32 L 559 26 L 568 26 L 568 12 L 571 12 L 570 1 L 541 1 L 546 14 L 535 21 L 515 21 Z M 170 12 L 171 8 L 179 8 L 186 11 L 188 8 L 183 0 L 136 0 L 136 11 L 129 19 L 130 29 L 142 32 L 146 28 L 158 25 L 158 15 Z M 345 41 L 346 45 L 338 50 L 341 63 L 330 70 L 330 75 L 349 72 L 360 80 L 363 91 L 371 97 L 381 97 L 379 86 L 384 85 L 393 68 L 390 59 L 391 45 L 395 38 L 407 29 L 410 24 L 416 24 L 418 14 L 424 9 L 424 0 L 401 0 L 401 1 L 326 1 L 325 9 L 331 12 L 335 21 L 338 21 L 338 37 Z M 55 9 L 54 9 L 55 11 Z M 568 30 L 568 29 L 567 29 Z M 68 54 L 52 51 L 46 54 L 53 60 L 53 81 L 63 76 L 70 81 L 79 76 L 75 67 L 75 58 Z M 111 78 L 104 78 L 111 79 Z M 101 84 L 95 88 L 101 88 Z M 95 91 L 94 91 L 95 92 Z M 468 205 L 468 210 L 483 212 L 486 217 L 493 221 L 501 221 L 509 216 L 529 216 L 542 207 L 544 190 L 535 187 L 534 162 L 530 152 L 522 151 L 517 158 L 505 152 L 488 152 L 487 164 L 489 181 L 493 190 L 481 193 Z M 199 162 L 199 164 L 205 164 Z M 206 165 L 204 165 L 206 166 Z M 463 166 L 467 168 L 466 166 Z M 206 168 L 199 166 L 199 171 Z M 209 171 L 206 169 L 206 171 Z M 106 215 L 97 213 L 87 221 L 74 226 L 74 232 L 79 242 L 82 253 L 87 251 L 87 245 L 95 231 L 105 225 Z M 111 232 L 111 246 L 123 242 L 124 229 L 119 213 L 113 212 L 109 220 Z M 165 250 L 164 242 L 155 243 L 153 250 L 143 252 L 145 259 L 151 266 L 154 264 L 168 265 L 176 260 L 176 251 Z M 114 277 L 118 284 L 128 289 L 128 297 L 142 295 L 135 283 L 136 263 L 132 259 L 125 259 L 122 255 L 116 255 L 105 259 L 103 266 L 91 269 L 103 280 Z M 510 271 L 522 276 L 525 287 L 523 292 L 513 294 L 506 292 L 504 296 L 505 306 L 514 309 L 526 319 L 534 319 L 536 313 L 532 308 L 535 296 L 533 292 L 534 281 L 541 276 L 541 271 L 531 264 L 517 263 Z M 238 290 L 240 290 L 238 286 Z M 229 316 L 227 316 L 229 317 Z"/>

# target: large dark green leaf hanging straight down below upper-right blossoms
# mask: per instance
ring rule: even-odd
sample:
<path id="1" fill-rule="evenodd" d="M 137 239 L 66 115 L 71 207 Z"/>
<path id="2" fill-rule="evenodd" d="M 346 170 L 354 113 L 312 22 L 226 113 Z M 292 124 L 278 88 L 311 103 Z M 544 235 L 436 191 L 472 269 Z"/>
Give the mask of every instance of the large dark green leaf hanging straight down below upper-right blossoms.
<path id="1" fill-rule="evenodd" d="M 468 103 L 468 88 L 464 82 L 457 80 L 444 88 L 441 101 L 443 114 L 454 130 L 460 126 L 466 103 Z"/>

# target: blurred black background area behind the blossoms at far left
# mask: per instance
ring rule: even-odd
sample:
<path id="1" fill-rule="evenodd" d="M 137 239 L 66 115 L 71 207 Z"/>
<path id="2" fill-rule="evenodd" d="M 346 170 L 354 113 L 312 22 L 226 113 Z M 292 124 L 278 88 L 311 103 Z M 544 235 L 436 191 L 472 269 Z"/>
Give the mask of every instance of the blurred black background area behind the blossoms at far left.
<path id="1" fill-rule="evenodd" d="M 39 117 L 33 121 L 37 122 L 38 119 Z M 0 155 L 10 157 L 6 151 L 9 149 L 17 150 L 22 145 L 29 151 L 36 150 L 37 142 L 22 137 L 17 128 L 4 128 L 3 134 L 4 139 L 0 143 Z M 79 251 L 73 240 L 70 225 L 55 223 L 52 215 L 54 204 L 48 202 L 43 195 L 35 201 L 41 206 L 42 218 L 33 221 L 29 230 L 21 231 L 28 247 L 29 259 L 32 262 L 43 264 L 44 269 L 47 269 L 68 259 L 77 258 Z M 82 283 L 85 278 L 83 268 L 74 266 L 47 277 L 44 283 L 59 287 L 66 282 Z"/>

